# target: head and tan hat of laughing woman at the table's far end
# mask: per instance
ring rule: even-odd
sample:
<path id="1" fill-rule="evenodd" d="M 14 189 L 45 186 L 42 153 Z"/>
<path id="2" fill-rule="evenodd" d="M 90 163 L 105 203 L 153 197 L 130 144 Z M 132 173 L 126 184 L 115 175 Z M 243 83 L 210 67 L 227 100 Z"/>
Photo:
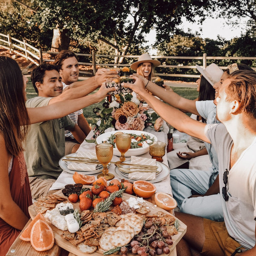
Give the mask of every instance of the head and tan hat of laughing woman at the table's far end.
<path id="1" fill-rule="evenodd" d="M 160 61 L 152 60 L 149 54 L 143 53 L 140 55 L 138 61 L 131 64 L 131 69 L 136 70 L 138 75 L 151 81 L 151 78 L 155 76 L 154 68 L 160 64 Z"/>

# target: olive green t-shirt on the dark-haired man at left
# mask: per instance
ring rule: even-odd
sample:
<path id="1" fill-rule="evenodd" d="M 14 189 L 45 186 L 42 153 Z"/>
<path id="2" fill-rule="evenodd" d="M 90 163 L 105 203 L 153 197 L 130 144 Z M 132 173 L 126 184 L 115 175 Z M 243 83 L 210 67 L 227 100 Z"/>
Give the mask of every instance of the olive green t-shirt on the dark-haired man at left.
<path id="1" fill-rule="evenodd" d="M 31 98 L 27 108 L 47 106 L 50 99 Z M 65 155 L 65 129 L 72 129 L 75 123 L 68 116 L 31 124 L 24 146 L 29 177 L 57 179 L 62 172 L 59 160 Z"/>

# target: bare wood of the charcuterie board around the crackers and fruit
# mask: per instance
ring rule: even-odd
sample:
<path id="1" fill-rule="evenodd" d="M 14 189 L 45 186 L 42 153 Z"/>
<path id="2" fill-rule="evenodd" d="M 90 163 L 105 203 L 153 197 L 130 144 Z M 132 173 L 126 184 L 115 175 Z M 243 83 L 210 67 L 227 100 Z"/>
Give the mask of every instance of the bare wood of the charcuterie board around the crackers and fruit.
<path id="1" fill-rule="evenodd" d="M 84 187 L 90 188 L 91 186 L 84 186 Z M 65 197 L 63 195 L 63 193 L 61 192 L 61 190 L 56 192 L 56 194 L 58 194 L 58 195 L 60 195 L 62 197 Z M 123 193 L 123 199 L 129 199 L 130 197 L 136 197 L 136 196 L 129 195 L 127 193 Z M 79 201 L 77 203 L 73 204 L 73 205 L 74 205 L 74 209 L 75 208 L 79 209 Z M 153 203 L 150 203 L 150 202 L 146 201 L 145 199 L 144 199 L 143 205 L 146 206 L 146 207 L 149 207 L 149 209 L 151 210 L 151 212 L 149 212 L 148 215 L 152 215 L 152 214 L 154 214 L 155 212 L 158 212 L 158 211 L 163 211 L 166 214 L 170 214 L 169 212 L 167 212 L 167 211 L 163 210 L 162 208 L 154 205 Z M 79 211 L 80 211 L 80 209 L 79 209 Z M 34 204 L 32 204 L 29 207 L 29 214 L 30 214 L 31 219 L 34 219 L 34 217 L 37 215 L 37 212 L 35 211 L 35 205 Z M 147 214 L 146 214 L 146 216 L 147 216 Z M 59 245 L 61 248 L 65 249 L 66 251 L 71 252 L 71 253 L 73 253 L 75 255 L 78 255 L 78 256 L 85 256 L 85 255 L 89 256 L 90 255 L 90 254 L 86 254 L 86 253 L 83 253 L 83 252 L 79 251 L 77 249 L 77 246 L 72 245 L 69 241 L 67 241 L 64 238 L 62 238 L 61 237 L 61 234 L 63 233 L 62 230 L 58 229 L 57 227 L 55 227 L 54 225 L 52 225 L 50 223 L 49 223 L 49 225 L 50 225 L 50 227 L 52 227 L 54 238 L 55 238 L 55 243 L 57 245 Z M 170 251 L 172 251 L 176 247 L 178 241 L 180 241 L 181 238 L 186 233 L 186 230 L 187 230 L 187 226 L 180 221 L 180 225 L 179 225 L 179 228 L 178 228 L 178 234 L 172 236 L 173 245 L 169 246 Z M 94 256 L 102 256 L 102 253 L 100 253 L 97 250 L 97 251 L 95 251 L 93 253 L 93 255 Z M 128 255 L 132 256 L 131 253 L 128 253 Z"/>

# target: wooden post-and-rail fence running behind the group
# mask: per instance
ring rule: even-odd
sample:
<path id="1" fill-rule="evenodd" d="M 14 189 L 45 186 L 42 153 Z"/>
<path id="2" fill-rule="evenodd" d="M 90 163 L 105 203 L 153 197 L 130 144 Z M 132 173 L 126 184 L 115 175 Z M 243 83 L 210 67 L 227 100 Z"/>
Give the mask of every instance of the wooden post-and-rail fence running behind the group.
<path id="1" fill-rule="evenodd" d="M 32 63 L 35 65 L 39 65 L 45 62 L 53 62 L 54 57 L 57 54 L 57 52 L 45 52 L 42 51 L 42 49 L 37 49 L 34 46 L 27 44 L 26 40 L 19 40 L 14 37 L 11 37 L 10 34 L 4 35 L 0 33 L 0 47 L 7 49 L 10 51 L 10 53 L 16 53 L 22 57 L 25 57 L 27 60 L 30 60 Z M 18 50 L 19 51 L 18 51 Z M 21 51 L 21 52 L 20 52 Z M 24 52 L 24 53 L 23 53 Z M 50 54 L 51 59 L 44 59 L 43 58 L 43 53 Z M 86 53 L 76 53 L 77 56 L 84 56 L 84 57 L 89 57 L 91 59 L 91 62 L 79 62 L 79 65 L 81 66 L 90 66 L 93 69 L 93 72 L 88 72 L 88 71 L 83 71 L 80 70 L 80 74 L 94 74 L 97 71 L 96 66 L 103 66 L 103 67 L 124 67 L 128 66 L 129 64 L 115 64 L 114 59 L 115 57 L 123 57 L 127 59 L 132 59 L 131 61 L 128 61 L 128 63 L 132 63 L 137 59 L 139 56 L 138 55 L 104 55 L 104 54 L 96 54 L 94 51 L 92 54 L 86 54 Z M 96 63 L 96 58 L 97 57 L 104 57 L 108 58 L 108 63 Z M 219 56 L 207 56 L 206 53 L 203 53 L 202 56 L 194 56 L 194 57 L 187 57 L 187 56 L 152 56 L 153 59 L 176 59 L 176 60 L 200 60 L 202 61 L 203 68 L 207 67 L 207 60 L 256 60 L 256 57 L 219 57 Z M 172 76 L 172 77 L 180 77 L 180 78 L 198 78 L 199 75 L 194 75 L 194 74 L 172 74 L 170 72 L 170 68 L 179 68 L 179 69 L 192 69 L 196 68 L 195 65 L 159 65 L 159 68 L 165 68 L 164 73 L 156 73 L 158 76 Z M 225 66 L 219 66 L 222 69 L 225 69 L 227 67 Z M 256 70 L 256 68 L 253 68 Z"/>

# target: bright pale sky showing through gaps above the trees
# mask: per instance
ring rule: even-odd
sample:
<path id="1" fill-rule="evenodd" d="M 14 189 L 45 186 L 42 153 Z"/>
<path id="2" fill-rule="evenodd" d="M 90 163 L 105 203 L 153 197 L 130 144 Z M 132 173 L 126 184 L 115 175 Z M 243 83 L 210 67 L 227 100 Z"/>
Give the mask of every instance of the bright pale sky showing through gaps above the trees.
<path id="1" fill-rule="evenodd" d="M 192 33 L 198 31 L 202 38 L 210 38 L 217 40 L 217 36 L 230 40 L 234 37 L 240 37 L 241 33 L 245 32 L 247 19 L 241 19 L 240 24 L 235 28 L 231 25 L 228 25 L 225 22 L 225 19 L 218 18 L 207 18 L 203 25 L 197 25 L 196 23 L 189 23 L 185 18 L 182 18 L 182 23 L 179 26 L 184 32 L 188 32 L 188 29 L 191 29 Z M 202 27 L 202 32 L 200 32 L 200 27 Z M 151 30 L 151 32 L 147 35 L 146 39 L 149 41 L 147 45 L 154 44 L 155 41 L 155 31 Z M 151 55 L 156 55 L 156 50 L 149 50 Z"/>

